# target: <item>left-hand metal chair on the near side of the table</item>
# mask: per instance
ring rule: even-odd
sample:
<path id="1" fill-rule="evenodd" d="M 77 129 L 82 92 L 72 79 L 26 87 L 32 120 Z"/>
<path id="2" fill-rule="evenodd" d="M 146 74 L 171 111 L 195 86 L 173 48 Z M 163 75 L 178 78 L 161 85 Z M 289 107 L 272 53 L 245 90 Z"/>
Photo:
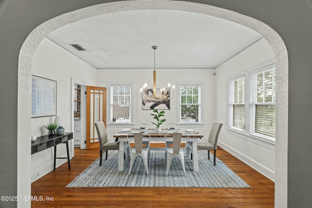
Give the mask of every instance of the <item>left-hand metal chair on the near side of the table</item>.
<path id="1" fill-rule="evenodd" d="M 143 136 L 144 135 L 148 135 L 148 142 L 144 142 L 145 145 L 143 145 Z M 129 140 L 129 136 L 133 136 L 134 137 L 134 142 L 130 142 Z M 148 133 L 129 133 L 127 135 L 127 140 L 128 140 L 128 144 L 130 147 L 130 167 L 129 167 L 129 172 L 128 175 L 130 175 L 133 164 L 134 164 L 134 160 L 137 156 L 142 157 L 143 162 L 144 162 L 144 167 L 146 170 L 146 174 L 148 175 L 148 161 L 149 161 L 149 149 L 150 149 L 150 141 L 151 141 L 151 135 Z M 134 147 L 131 147 L 132 144 L 134 144 Z"/>

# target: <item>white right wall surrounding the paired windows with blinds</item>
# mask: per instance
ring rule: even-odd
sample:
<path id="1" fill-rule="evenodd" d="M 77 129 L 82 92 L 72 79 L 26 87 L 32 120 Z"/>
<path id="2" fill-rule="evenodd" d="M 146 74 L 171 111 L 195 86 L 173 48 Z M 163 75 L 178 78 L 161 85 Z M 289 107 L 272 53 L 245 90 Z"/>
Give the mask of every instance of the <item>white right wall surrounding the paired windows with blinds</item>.
<path id="1" fill-rule="evenodd" d="M 223 123 L 219 145 L 274 181 L 275 145 L 227 130 L 227 77 L 274 59 L 268 42 L 262 38 L 251 47 L 216 68 L 217 119 Z"/>

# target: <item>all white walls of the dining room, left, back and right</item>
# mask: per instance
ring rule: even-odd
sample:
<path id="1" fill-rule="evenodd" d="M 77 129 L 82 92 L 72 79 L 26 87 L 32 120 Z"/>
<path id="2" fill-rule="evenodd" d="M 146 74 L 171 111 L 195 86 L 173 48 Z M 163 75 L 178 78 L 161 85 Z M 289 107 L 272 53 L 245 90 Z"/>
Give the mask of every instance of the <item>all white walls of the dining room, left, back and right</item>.
<path id="1" fill-rule="evenodd" d="M 198 81 L 204 82 L 203 89 L 203 125 L 186 124 L 182 128 L 193 128 L 208 137 L 212 122 L 217 120 L 224 124 L 219 137 L 219 145 L 225 150 L 262 172 L 274 180 L 275 147 L 254 141 L 250 138 L 233 134 L 226 130 L 227 124 L 227 77 L 247 70 L 259 63 L 273 59 L 273 52 L 266 40 L 261 39 L 250 48 L 215 69 L 156 69 L 156 86 L 166 86 L 168 82 Z M 213 73 L 216 72 L 216 76 Z M 134 83 L 134 122 L 131 125 L 108 124 L 108 136 L 121 128 L 132 127 L 135 123 L 150 123 L 153 121 L 149 110 L 142 110 L 139 89 L 147 82 L 153 84 L 153 69 L 95 69 L 79 58 L 68 53 L 47 38 L 44 38 L 37 48 L 33 58 L 32 75 L 56 80 L 58 82 L 57 114 L 61 115 L 62 126 L 71 129 L 71 77 L 84 81 L 88 85 L 106 87 L 107 82 L 125 81 Z M 176 93 L 171 99 L 170 110 L 166 110 L 166 123 L 178 123 Z M 109 107 L 109 105 L 107 105 Z M 107 109 L 109 110 L 109 108 Z M 32 118 L 32 135 L 47 134 L 43 125 L 54 120 L 55 116 Z M 152 125 L 152 124 L 151 124 Z M 66 156 L 65 145 L 58 146 L 58 156 Z M 66 160 L 57 160 L 57 166 Z M 32 180 L 36 180 L 53 170 L 53 148 L 32 155 Z M 39 176 L 37 176 L 39 174 Z"/>

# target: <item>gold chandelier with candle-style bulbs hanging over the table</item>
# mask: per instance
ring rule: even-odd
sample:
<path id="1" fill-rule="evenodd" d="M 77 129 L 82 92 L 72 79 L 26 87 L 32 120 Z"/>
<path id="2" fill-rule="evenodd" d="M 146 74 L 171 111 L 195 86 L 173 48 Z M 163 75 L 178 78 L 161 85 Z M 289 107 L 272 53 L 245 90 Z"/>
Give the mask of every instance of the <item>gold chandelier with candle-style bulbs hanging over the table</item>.
<path id="1" fill-rule="evenodd" d="M 168 83 L 168 88 L 160 88 L 158 92 L 156 91 L 156 68 L 155 68 L 155 51 L 157 49 L 157 46 L 152 46 L 154 49 L 154 71 L 153 71 L 153 89 L 147 89 L 147 83 L 143 85 L 143 87 L 140 89 L 140 97 L 141 99 L 156 99 L 156 100 L 164 100 L 164 99 L 170 99 L 174 97 L 175 92 L 175 85 L 172 86 L 172 97 L 171 97 L 171 89 L 170 89 L 170 83 Z"/>

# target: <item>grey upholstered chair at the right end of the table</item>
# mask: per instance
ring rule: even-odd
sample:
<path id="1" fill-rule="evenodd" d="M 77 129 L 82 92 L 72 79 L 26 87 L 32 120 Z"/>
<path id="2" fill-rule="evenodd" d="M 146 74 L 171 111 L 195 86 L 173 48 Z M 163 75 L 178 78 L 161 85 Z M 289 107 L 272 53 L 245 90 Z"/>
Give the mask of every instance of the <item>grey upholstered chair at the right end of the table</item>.
<path id="1" fill-rule="evenodd" d="M 211 127 L 209 138 L 207 139 L 200 139 L 197 142 L 197 150 L 208 150 L 208 160 L 210 160 L 210 151 L 214 151 L 214 166 L 215 166 L 215 155 L 218 143 L 219 133 L 222 128 L 222 123 L 214 122 L 213 126 Z"/>

